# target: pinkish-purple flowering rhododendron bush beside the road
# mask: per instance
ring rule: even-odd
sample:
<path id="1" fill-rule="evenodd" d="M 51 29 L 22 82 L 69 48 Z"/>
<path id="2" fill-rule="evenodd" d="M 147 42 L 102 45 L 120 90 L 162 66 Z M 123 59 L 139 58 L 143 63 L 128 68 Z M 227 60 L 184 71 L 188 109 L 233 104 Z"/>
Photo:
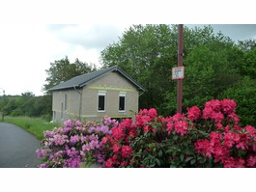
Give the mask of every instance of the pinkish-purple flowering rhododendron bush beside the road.
<path id="1" fill-rule="evenodd" d="M 79 167 L 80 162 L 87 166 L 104 162 L 101 138 L 111 134 L 111 127 L 118 122 L 104 118 L 100 123 L 80 123 L 71 120 L 64 127 L 44 132 L 41 149 L 37 150 L 42 158 L 39 167 Z"/>

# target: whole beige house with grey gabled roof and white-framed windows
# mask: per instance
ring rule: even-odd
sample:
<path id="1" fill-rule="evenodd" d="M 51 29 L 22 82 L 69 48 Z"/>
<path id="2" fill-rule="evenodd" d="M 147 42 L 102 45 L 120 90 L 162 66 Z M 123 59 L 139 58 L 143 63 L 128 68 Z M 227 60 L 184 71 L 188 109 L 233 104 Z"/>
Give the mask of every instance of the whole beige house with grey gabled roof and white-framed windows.
<path id="1" fill-rule="evenodd" d="M 79 75 L 49 89 L 52 92 L 53 122 L 68 119 L 100 121 L 133 118 L 139 96 L 145 91 L 118 67 Z"/>

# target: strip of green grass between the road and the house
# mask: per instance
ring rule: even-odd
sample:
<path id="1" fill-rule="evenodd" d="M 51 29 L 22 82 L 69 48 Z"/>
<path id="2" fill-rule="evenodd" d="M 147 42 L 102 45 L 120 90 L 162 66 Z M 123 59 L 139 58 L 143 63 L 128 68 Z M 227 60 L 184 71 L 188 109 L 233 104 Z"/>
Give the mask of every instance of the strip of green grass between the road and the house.
<path id="1" fill-rule="evenodd" d="M 43 139 L 43 131 L 59 127 L 60 123 L 47 123 L 41 118 L 29 117 L 5 117 L 6 123 L 14 123 L 35 135 L 39 140 Z"/>

